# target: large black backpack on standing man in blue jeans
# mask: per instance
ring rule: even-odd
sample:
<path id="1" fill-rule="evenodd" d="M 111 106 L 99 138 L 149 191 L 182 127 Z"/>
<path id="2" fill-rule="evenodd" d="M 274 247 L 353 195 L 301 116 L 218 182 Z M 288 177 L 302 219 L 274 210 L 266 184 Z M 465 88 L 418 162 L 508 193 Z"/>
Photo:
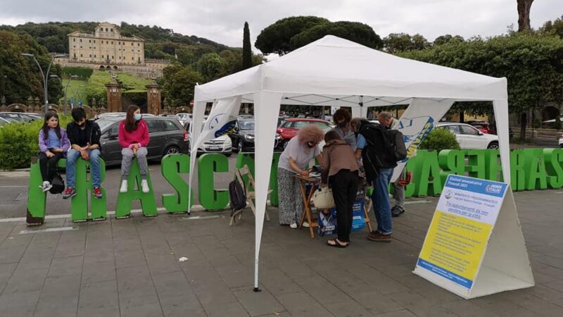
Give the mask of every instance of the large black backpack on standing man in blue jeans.
<path id="1" fill-rule="evenodd" d="M 366 140 L 362 160 L 368 180 L 377 178 L 379 169 L 395 168 L 398 161 L 407 157 L 403 133 L 398 130 L 388 130 L 380 124 L 363 123 L 360 134 Z"/>

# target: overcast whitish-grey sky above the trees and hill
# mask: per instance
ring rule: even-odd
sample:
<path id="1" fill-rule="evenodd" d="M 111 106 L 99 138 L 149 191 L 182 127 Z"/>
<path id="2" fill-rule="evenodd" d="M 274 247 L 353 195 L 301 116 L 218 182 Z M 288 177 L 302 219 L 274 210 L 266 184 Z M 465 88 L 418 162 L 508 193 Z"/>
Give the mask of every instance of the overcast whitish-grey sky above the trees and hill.
<path id="1" fill-rule="evenodd" d="M 158 25 L 184 35 L 242 46 L 244 22 L 252 44 L 260 31 L 293 15 L 316 15 L 333 22 L 366 23 L 382 38 L 389 33 L 472 37 L 500 35 L 517 28 L 517 0 L 0 0 L 0 24 L 49 21 L 121 21 Z M 563 15 L 563 0 L 536 0 L 531 25 Z"/>

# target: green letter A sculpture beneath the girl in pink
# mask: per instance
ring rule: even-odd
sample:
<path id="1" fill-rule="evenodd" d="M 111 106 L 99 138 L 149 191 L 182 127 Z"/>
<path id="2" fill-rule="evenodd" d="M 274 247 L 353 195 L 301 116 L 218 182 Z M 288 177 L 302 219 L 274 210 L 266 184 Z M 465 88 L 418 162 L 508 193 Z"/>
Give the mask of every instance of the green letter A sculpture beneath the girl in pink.
<path id="1" fill-rule="evenodd" d="M 127 192 L 118 194 L 118 206 L 115 209 L 115 218 L 127 218 L 131 215 L 131 205 L 133 199 L 141 200 L 141 209 L 144 216 L 156 216 L 156 201 L 153 193 L 153 183 L 151 182 L 151 173 L 146 173 L 146 181 L 148 182 L 147 193 L 141 191 L 141 171 L 137 159 L 131 162 L 129 170 L 129 178 L 127 179 Z M 134 190 L 137 184 L 137 190 Z"/>

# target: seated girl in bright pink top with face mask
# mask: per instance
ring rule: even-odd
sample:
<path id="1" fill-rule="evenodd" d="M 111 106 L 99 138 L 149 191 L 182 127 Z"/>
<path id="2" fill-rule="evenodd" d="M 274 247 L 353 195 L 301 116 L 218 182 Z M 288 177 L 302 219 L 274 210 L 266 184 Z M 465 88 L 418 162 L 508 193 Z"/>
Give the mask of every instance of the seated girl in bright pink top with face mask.
<path id="1" fill-rule="evenodd" d="M 146 182 L 146 146 L 148 145 L 148 126 L 141 116 L 141 108 L 131 105 L 127 109 L 125 120 L 119 124 L 119 144 L 122 147 L 121 154 L 121 186 L 120 192 L 127 192 L 127 178 L 133 157 L 139 161 L 141 170 L 141 190 L 148 192 Z"/>

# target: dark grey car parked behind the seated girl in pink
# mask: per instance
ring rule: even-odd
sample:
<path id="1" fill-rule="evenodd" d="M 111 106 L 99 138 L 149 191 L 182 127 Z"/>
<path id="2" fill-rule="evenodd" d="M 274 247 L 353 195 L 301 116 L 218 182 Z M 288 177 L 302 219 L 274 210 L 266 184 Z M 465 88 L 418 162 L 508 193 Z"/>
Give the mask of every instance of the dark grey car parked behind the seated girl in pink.
<path id="1" fill-rule="evenodd" d="M 121 163 L 118 133 L 119 123 L 124 118 L 125 116 L 108 116 L 96 120 L 101 129 L 101 155 L 108 166 Z M 160 160 L 167 154 L 188 154 L 188 136 L 177 118 L 143 115 L 143 119 L 151 138 L 147 147 L 147 159 Z"/>

